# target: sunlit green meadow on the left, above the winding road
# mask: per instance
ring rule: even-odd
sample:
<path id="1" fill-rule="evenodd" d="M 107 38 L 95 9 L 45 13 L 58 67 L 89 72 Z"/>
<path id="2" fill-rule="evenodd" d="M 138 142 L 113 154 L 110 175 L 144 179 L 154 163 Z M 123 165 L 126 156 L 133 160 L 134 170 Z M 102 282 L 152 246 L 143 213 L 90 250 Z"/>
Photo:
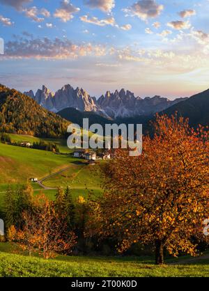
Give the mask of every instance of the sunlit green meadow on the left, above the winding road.
<path id="1" fill-rule="evenodd" d="M 42 178 L 55 169 L 68 166 L 72 158 L 53 152 L 33 150 L 0 143 L 0 183 L 26 182 L 28 178 Z"/>

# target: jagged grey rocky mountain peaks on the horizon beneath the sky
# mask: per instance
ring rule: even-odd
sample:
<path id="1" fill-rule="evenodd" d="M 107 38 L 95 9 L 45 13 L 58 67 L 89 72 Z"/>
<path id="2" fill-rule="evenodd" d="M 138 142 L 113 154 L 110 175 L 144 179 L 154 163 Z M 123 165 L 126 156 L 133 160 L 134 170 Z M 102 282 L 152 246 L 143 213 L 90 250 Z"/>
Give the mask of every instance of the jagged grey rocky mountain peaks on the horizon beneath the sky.
<path id="1" fill-rule="evenodd" d="M 42 86 L 42 90 L 38 89 L 36 94 L 33 91 L 24 92 L 24 94 L 32 97 L 45 109 L 55 113 L 65 108 L 74 108 L 82 112 L 95 112 L 111 119 L 154 114 L 187 99 L 178 98 L 171 101 L 160 96 L 142 99 L 135 97 L 134 93 L 122 89 L 121 91 L 116 90 L 114 93 L 107 91 L 105 95 L 96 100 L 84 89 L 74 89 L 70 85 L 63 86 L 55 94 L 46 86 Z"/>

